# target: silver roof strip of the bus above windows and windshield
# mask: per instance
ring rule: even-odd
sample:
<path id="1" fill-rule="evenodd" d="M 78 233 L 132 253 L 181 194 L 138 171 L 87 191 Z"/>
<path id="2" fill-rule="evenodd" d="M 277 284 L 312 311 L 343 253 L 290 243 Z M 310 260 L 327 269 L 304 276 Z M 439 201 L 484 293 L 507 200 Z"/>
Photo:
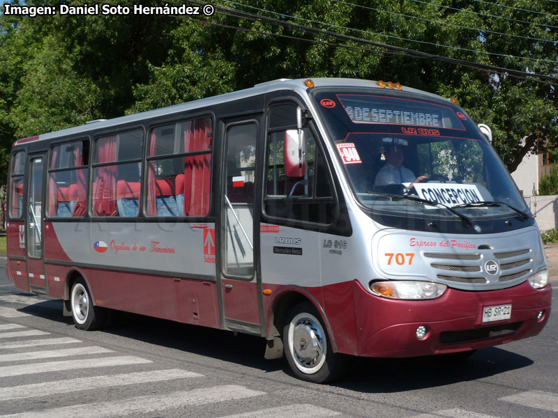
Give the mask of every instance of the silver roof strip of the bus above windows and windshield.
<path id="1" fill-rule="evenodd" d="M 233 91 L 232 93 L 225 93 L 222 95 L 216 95 L 209 98 L 193 100 L 192 102 L 174 104 L 173 106 L 162 107 L 160 109 L 153 109 L 149 111 L 142 111 L 137 114 L 119 116 L 117 118 L 112 118 L 112 119 L 98 119 L 96 121 L 90 121 L 85 125 L 69 127 L 54 132 L 48 132 L 45 134 L 37 135 L 35 137 L 18 139 L 17 141 L 15 141 L 13 146 L 34 142 L 34 141 L 65 137 L 66 135 L 72 135 L 72 134 L 86 134 L 87 132 L 93 130 L 116 127 L 118 125 L 144 121 L 145 119 L 156 118 L 158 116 L 169 116 L 172 114 L 179 114 L 183 111 L 199 109 L 202 107 L 209 107 L 215 104 L 220 104 L 225 102 L 232 102 L 234 100 L 249 98 L 251 96 L 259 95 L 262 93 L 271 93 L 273 91 L 292 90 L 304 96 L 308 91 L 308 87 L 306 87 L 306 85 L 304 84 L 306 80 L 307 79 L 277 79 L 270 82 L 256 84 L 251 88 L 245 88 L 243 90 Z M 375 81 L 364 80 L 364 79 L 312 78 L 312 82 L 314 82 L 315 87 L 366 87 L 366 88 L 379 88 L 382 90 L 385 89 L 377 86 L 377 82 Z M 426 95 L 429 96 L 430 98 L 435 98 L 437 100 L 440 99 L 448 100 L 446 98 L 442 98 L 439 95 L 417 90 L 415 88 L 403 87 L 403 91 L 420 94 L 420 95 Z"/>

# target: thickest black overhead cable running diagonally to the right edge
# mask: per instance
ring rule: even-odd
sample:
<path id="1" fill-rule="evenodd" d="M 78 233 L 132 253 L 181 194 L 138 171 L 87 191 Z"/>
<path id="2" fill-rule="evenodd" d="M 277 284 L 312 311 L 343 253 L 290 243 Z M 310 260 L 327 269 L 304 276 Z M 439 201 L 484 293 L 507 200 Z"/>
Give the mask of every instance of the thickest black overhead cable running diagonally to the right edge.
<path id="1" fill-rule="evenodd" d="M 193 1 L 193 0 L 187 0 L 187 1 L 189 3 L 202 4 L 198 1 Z M 523 78 L 527 78 L 527 79 L 538 78 L 538 79 L 550 82 L 550 84 L 558 84 L 558 77 L 552 77 L 550 75 L 541 75 L 541 74 L 536 74 L 534 72 L 513 70 L 511 68 L 502 68 L 502 67 L 497 67 L 495 65 L 487 65 L 487 64 L 481 64 L 481 63 L 475 63 L 475 62 L 472 62 L 472 61 L 465 61 L 465 60 L 462 60 L 462 59 L 453 59 L 453 58 L 449 58 L 449 57 L 446 57 L 446 56 L 439 56 L 439 55 L 436 55 L 436 54 L 428 54 L 426 52 L 416 51 L 414 49 L 408 49 L 408 48 L 404 48 L 404 47 L 396 47 L 394 45 L 384 44 L 382 42 L 375 42 L 375 41 L 372 41 L 372 40 L 366 40 L 366 39 L 363 39 L 363 38 L 356 38 L 354 36 L 349 36 L 349 35 L 345 35 L 345 34 L 342 34 L 342 33 L 335 33 L 335 32 L 331 32 L 331 31 L 326 31 L 325 29 L 317 29 L 317 28 L 313 28 L 311 26 L 304 26 L 304 25 L 295 24 L 295 23 L 292 23 L 292 22 L 285 22 L 283 20 L 274 19 L 273 17 L 255 15 L 253 13 L 243 12 L 242 10 L 227 9 L 227 8 L 223 8 L 223 6 L 215 6 L 215 7 L 221 13 L 225 13 L 225 14 L 235 16 L 235 17 L 241 17 L 241 18 L 246 18 L 246 19 L 250 19 L 250 20 L 259 20 L 259 21 L 269 22 L 269 23 L 278 24 L 278 25 L 284 26 L 284 27 L 291 27 L 291 28 L 294 28 L 294 29 L 298 29 L 299 31 L 306 31 L 306 32 L 310 32 L 310 33 L 319 33 L 321 35 L 334 36 L 334 37 L 337 37 L 337 38 L 353 41 L 353 42 L 360 43 L 360 44 L 363 44 L 363 45 L 373 45 L 375 47 L 382 47 L 382 48 L 397 51 L 397 52 L 406 52 L 409 55 L 417 56 L 417 57 L 421 57 L 421 58 L 425 58 L 425 59 L 430 59 L 432 61 L 442 61 L 442 62 L 446 62 L 446 63 L 453 63 L 455 65 L 465 65 L 467 67 L 476 68 L 477 70 L 488 70 L 488 71 L 492 71 L 492 72 L 502 73 L 502 74 L 505 74 L 505 75 L 511 75 L 512 77 L 519 76 L 519 77 L 523 77 Z"/>

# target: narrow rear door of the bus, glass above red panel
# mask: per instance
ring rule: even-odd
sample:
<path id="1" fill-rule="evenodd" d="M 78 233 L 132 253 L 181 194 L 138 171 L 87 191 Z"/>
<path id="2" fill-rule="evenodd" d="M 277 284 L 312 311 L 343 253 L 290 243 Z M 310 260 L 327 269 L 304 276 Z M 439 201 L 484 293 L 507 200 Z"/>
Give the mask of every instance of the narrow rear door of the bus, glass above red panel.
<path id="1" fill-rule="evenodd" d="M 45 155 L 30 155 L 25 231 L 27 238 L 27 276 L 29 277 L 29 289 L 34 293 L 47 293 L 43 254 L 44 179 Z"/>

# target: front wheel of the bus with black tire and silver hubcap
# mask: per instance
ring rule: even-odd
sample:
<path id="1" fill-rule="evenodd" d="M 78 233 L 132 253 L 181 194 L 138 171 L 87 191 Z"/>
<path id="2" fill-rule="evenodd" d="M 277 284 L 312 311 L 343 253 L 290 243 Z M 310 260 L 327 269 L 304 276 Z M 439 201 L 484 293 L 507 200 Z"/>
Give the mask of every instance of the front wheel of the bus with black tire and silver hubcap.
<path id="1" fill-rule="evenodd" d="M 291 309 L 282 339 L 287 363 L 297 378 L 324 383 L 342 372 L 345 357 L 333 353 L 324 324 L 310 302 L 301 302 Z"/>

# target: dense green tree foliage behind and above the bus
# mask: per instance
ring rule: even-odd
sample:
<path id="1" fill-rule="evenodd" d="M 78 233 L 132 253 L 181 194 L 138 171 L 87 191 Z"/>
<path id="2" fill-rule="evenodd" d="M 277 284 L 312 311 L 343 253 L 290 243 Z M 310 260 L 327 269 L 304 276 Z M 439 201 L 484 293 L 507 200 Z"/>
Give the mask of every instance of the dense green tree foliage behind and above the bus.
<path id="1" fill-rule="evenodd" d="M 91 5 L 86 0 L 64 3 Z M 137 1 L 117 3 L 130 6 Z M 141 3 L 164 4 L 160 0 Z M 511 7 L 474 0 L 435 0 L 432 4 L 218 0 L 213 4 L 430 54 L 558 76 L 555 1 L 506 2 Z M 0 63 L 2 179 L 10 146 L 18 137 L 282 77 L 384 79 L 453 96 L 475 121 L 492 127 L 495 148 L 510 171 L 536 148 L 537 139 L 549 141 L 549 149 L 558 145 L 555 85 L 402 56 L 354 40 L 220 10 L 195 21 L 165 15 L 0 15 Z"/>

